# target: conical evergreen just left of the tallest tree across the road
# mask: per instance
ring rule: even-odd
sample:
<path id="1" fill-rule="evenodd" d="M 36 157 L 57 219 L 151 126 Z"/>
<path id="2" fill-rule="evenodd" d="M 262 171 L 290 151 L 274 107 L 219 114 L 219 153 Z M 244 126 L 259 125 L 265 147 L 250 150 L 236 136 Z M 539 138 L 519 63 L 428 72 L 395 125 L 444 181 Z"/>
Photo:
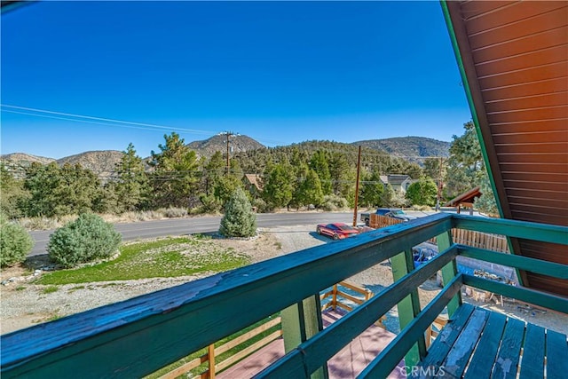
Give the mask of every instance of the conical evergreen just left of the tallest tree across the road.
<path id="1" fill-rule="evenodd" d="M 136 154 L 132 143 L 122 152 L 121 162 L 116 164 L 118 180 L 114 186 L 118 209 L 136 210 L 148 195 L 148 181 L 142 158 Z"/>

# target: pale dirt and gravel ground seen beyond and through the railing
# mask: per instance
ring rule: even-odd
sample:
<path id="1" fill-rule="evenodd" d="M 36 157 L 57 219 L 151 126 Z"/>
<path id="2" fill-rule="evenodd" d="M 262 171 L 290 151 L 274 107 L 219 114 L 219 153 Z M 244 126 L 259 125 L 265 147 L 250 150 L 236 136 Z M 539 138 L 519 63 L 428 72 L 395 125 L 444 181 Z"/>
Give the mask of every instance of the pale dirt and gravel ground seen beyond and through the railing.
<path id="1" fill-rule="evenodd" d="M 223 248 L 233 248 L 237 252 L 247 254 L 254 263 L 331 242 L 326 237 L 315 233 L 313 225 L 262 229 L 256 238 L 249 240 L 216 239 L 215 241 Z M 19 266 L 0 272 L 0 282 L 3 283 L 0 285 L 2 300 L 0 330 L 2 334 L 200 278 L 193 276 L 124 280 L 119 283 L 88 283 L 81 286 L 66 285 L 59 286 L 57 291 L 51 293 L 46 289 L 49 286 L 33 284 L 36 275 L 41 274 L 41 272 L 35 272 L 34 268 L 46 264 L 46 257 L 39 257 L 31 262 L 31 270 Z M 377 294 L 392 283 L 390 264 L 383 262 L 375 265 L 348 280 Z M 419 288 L 422 306 L 438 295 L 439 290 L 435 279 L 427 280 L 422 284 Z M 472 296 L 466 295 L 465 288 L 462 289 L 462 295 L 467 303 L 503 312 L 519 320 L 568 334 L 568 317 L 564 314 L 531 307 L 511 299 L 503 299 L 504 304 L 501 304 L 499 296 L 493 296 L 490 301 L 482 301 L 476 294 L 476 301 Z M 385 325 L 390 331 L 398 332 L 396 307 L 387 314 Z"/>

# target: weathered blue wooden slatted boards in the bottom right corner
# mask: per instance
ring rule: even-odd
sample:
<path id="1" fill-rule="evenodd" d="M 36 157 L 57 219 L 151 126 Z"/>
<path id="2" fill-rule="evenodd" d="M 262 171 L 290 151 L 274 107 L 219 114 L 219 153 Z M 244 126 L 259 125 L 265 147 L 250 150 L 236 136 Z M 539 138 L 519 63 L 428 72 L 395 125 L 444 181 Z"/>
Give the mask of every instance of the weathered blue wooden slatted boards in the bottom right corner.
<path id="1" fill-rule="evenodd" d="M 462 312 L 464 305 L 431 344 L 421 363 L 425 374 L 418 376 L 432 377 L 431 368 L 442 367 L 456 378 L 516 378 L 517 372 L 520 379 L 566 377 L 565 335 L 480 308 Z"/>

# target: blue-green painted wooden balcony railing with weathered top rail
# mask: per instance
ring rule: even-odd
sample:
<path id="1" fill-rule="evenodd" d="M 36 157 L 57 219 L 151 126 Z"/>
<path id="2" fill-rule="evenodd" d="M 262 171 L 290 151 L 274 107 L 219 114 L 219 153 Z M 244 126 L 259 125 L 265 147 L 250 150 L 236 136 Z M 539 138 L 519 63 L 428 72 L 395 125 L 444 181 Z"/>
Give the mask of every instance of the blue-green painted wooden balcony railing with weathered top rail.
<path id="1" fill-rule="evenodd" d="M 401 333 L 361 373 L 388 375 L 405 356 L 406 364 L 423 356 L 424 331 L 446 306 L 452 313 L 461 304 L 462 284 L 568 312 L 564 297 L 456 274 L 454 258 L 461 254 L 564 279 L 568 266 L 455 245 L 449 236 L 453 227 L 561 245 L 567 244 L 568 235 L 568 228 L 554 225 L 448 214 L 424 217 L 2 336 L 1 373 L 3 378 L 147 375 L 389 258 L 399 278 L 393 285 L 258 376 L 307 377 L 321 372 L 327 359 L 354 337 L 390 308 L 411 299 L 408 307 L 399 308 L 412 312 Z M 412 270 L 408 252 L 432 237 L 438 237 L 440 253 Z M 420 309 L 416 288 L 440 269 L 446 287 Z"/>

